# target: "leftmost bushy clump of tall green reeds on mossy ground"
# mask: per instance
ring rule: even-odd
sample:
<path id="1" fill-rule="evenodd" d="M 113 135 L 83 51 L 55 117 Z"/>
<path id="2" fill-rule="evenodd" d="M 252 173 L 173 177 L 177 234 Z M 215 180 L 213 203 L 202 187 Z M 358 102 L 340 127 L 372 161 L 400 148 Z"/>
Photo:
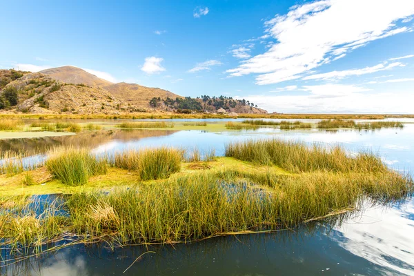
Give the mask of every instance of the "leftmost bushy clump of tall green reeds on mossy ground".
<path id="1" fill-rule="evenodd" d="M 97 159 L 83 148 L 55 148 L 49 154 L 46 168 L 63 184 L 83 185 L 93 175 L 106 174 L 106 160 Z"/>

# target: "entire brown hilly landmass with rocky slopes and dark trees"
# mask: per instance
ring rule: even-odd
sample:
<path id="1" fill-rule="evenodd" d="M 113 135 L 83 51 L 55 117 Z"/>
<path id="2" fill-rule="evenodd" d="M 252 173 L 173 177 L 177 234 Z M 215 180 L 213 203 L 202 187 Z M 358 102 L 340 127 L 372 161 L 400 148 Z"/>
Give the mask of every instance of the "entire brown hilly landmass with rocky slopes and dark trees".
<path id="1" fill-rule="evenodd" d="M 181 97 L 136 83 L 111 83 L 81 68 L 63 66 L 41 72 L 0 70 L 1 112 L 119 114 L 123 112 L 266 113 L 231 97 Z"/>

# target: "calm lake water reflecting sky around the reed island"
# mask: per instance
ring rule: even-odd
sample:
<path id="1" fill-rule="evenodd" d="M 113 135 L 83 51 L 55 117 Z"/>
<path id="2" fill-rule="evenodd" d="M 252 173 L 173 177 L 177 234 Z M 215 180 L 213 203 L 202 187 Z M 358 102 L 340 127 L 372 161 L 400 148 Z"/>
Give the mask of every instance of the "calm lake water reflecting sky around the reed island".
<path id="1" fill-rule="evenodd" d="M 413 123 L 407 119 L 403 129 L 376 131 L 103 130 L 93 135 L 5 140 L 0 146 L 41 149 L 84 144 L 99 154 L 165 145 L 198 148 L 201 152 L 214 148 L 216 155 L 224 155 L 224 145 L 230 141 L 280 137 L 326 146 L 340 144 L 350 152 L 373 151 L 391 168 L 413 175 Z M 103 244 L 72 246 L 0 268 L 0 274 L 122 275 L 146 253 L 124 275 L 414 275 L 413 234 L 411 200 L 390 208 L 367 208 L 333 229 L 317 224 L 279 233 L 219 237 L 175 246 L 126 246 L 115 251 Z M 4 251 L 2 257 L 10 258 Z"/>

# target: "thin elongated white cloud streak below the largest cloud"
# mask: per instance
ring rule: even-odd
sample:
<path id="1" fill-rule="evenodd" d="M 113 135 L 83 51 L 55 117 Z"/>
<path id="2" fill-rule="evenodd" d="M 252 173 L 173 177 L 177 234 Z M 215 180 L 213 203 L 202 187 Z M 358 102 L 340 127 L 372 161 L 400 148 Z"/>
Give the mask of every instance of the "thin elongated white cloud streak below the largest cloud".
<path id="1" fill-rule="evenodd" d="M 332 71 L 322 74 L 315 74 L 304 77 L 304 80 L 308 79 L 343 79 L 344 77 L 350 76 L 360 76 L 365 74 L 371 74 L 373 72 L 378 72 L 382 70 L 388 70 L 397 66 L 404 66 L 400 62 L 394 62 L 386 65 L 385 63 L 377 64 L 376 66 L 366 67 L 362 69 L 352 69 L 352 70 L 342 70 L 342 71 Z"/>

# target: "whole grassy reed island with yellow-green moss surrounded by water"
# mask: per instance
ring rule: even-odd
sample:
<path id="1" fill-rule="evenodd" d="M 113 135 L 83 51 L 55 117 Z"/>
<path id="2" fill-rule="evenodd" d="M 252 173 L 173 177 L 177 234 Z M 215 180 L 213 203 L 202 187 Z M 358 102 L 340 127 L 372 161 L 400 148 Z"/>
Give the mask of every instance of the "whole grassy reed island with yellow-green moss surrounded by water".
<path id="1" fill-rule="evenodd" d="M 213 155 L 190 158 L 165 147 L 112 157 L 52 150 L 44 166 L 0 176 L 1 246 L 39 253 L 68 237 L 123 246 L 271 232 L 333 223 L 367 198 L 395 204 L 414 188 L 411 177 L 372 153 L 349 155 L 338 146 L 252 140 L 227 144 L 226 157 Z M 59 204 L 32 209 L 30 193 L 57 190 L 64 194 Z"/>

